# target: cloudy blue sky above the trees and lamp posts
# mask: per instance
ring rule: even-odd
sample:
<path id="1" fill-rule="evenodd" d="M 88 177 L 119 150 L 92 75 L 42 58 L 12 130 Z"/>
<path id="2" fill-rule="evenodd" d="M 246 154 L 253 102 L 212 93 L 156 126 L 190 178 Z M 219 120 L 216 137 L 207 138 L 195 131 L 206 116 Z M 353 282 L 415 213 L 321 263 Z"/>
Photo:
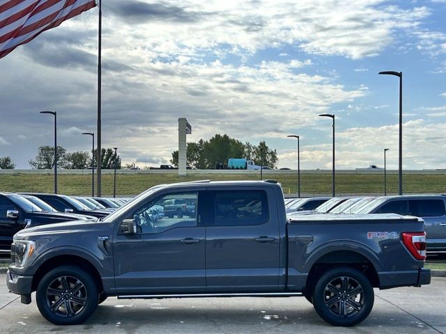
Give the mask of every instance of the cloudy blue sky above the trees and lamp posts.
<path id="1" fill-rule="evenodd" d="M 168 163 L 188 141 L 228 134 L 276 148 L 279 167 L 446 168 L 446 0 L 102 0 L 102 146 L 124 163 Z M 0 157 L 38 146 L 89 150 L 96 132 L 98 8 L 0 59 Z"/>

